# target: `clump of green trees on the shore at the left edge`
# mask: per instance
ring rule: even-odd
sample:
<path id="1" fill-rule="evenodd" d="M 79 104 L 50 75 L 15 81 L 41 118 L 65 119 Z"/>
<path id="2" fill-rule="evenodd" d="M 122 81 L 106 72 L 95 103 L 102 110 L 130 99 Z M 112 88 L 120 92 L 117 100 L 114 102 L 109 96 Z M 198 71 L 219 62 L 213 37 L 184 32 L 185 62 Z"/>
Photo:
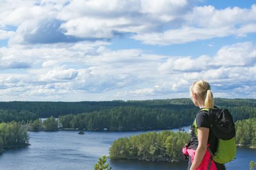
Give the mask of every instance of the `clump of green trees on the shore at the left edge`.
<path id="1" fill-rule="evenodd" d="M 4 149 L 29 145 L 28 131 L 15 121 L 0 123 L 0 153 Z"/>

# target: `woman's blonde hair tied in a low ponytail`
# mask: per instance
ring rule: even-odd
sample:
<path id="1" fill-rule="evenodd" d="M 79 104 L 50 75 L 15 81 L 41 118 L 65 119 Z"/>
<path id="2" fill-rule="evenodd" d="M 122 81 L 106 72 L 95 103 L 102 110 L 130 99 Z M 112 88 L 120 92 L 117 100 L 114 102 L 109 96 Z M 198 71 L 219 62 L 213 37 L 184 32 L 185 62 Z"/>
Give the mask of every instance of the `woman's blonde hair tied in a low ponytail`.
<path id="1" fill-rule="evenodd" d="M 194 82 L 189 88 L 191 97 L 193 93 L 200 97 L 202 101 L 204 101 L 204 106 L 206 108 L 213 108 L 213 94 L 211 92 L 210 84 L 201 79 L 197 82 Z"/>

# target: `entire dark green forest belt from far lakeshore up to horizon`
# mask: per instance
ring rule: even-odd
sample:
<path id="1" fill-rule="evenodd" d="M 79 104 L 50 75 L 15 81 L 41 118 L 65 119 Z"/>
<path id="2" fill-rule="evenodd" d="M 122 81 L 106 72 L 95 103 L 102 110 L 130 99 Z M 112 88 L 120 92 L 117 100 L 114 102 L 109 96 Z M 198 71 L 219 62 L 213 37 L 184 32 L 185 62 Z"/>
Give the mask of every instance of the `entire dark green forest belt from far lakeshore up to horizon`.
<path id="1" fill-rule="evenodd" d="M 234 121 L 255 118 L 254 99 L 214 99 Z M 58 118 L 60 128 L 87 130 L 168 129 L 187 126 L 199 111 L 190 99 L 103 102 L 0 102 L 0 122 L 22 124 L 38 118 Z M 152 121 L 154 120 L 154 121 Z M 41 123 L 42 124 L 42 123 Z M 56 124 L 56 123 L 55 123 Z M 34 126 L 36 124 L 32 124 Z M 38 128 L 42 129 L 42 128 Z"/>

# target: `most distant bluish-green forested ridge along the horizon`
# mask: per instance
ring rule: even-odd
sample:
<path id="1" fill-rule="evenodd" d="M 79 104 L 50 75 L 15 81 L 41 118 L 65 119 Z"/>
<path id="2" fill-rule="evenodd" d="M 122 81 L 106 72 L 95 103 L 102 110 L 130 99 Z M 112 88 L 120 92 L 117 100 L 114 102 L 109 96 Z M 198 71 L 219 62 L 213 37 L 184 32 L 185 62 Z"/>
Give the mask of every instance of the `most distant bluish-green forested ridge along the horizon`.
<path id="1" fill-rule="evenodd" d="M 255 99 L 214 99 L 219 106 L 235 107 L 249 106 L 256 107 Z M 57 118 L 59 115 L 78 114 L 110 109 L 118 106 L 135 106 L 143 108 L 162 109 L 191 109 L 195 108 L 191 99 L 165 99 L 165 100 L 145 100 L 145 101 L 101 101 L 101 102 L 0 102 L 0 110 L 16 110 L 20 112 L 27 110 L 37 115 L 37 118 Z"/>

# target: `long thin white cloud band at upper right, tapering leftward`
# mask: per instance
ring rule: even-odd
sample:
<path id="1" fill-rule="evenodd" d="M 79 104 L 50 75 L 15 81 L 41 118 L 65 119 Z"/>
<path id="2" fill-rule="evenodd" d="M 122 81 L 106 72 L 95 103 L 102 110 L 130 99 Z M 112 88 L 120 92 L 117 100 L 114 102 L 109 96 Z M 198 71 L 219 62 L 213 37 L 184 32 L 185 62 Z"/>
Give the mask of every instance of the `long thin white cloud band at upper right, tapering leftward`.
<path id="1" fill-rule="evenodd" d="M 240 28 L 232 26 L 222 26 L 214 28 L 196 28 L 188 27 L 171 29 L 164 32 L 136 34 L 132 38 L 142 41 L 145 44 L 152 45 L 169 45 L 182 44 L 197 40 L 207 40 L 215 37 L 227 37 L 236 35 L 238 37 L 245 36 L 247 33 L 256 32 L 256 24 L 241 25 Z"/>

